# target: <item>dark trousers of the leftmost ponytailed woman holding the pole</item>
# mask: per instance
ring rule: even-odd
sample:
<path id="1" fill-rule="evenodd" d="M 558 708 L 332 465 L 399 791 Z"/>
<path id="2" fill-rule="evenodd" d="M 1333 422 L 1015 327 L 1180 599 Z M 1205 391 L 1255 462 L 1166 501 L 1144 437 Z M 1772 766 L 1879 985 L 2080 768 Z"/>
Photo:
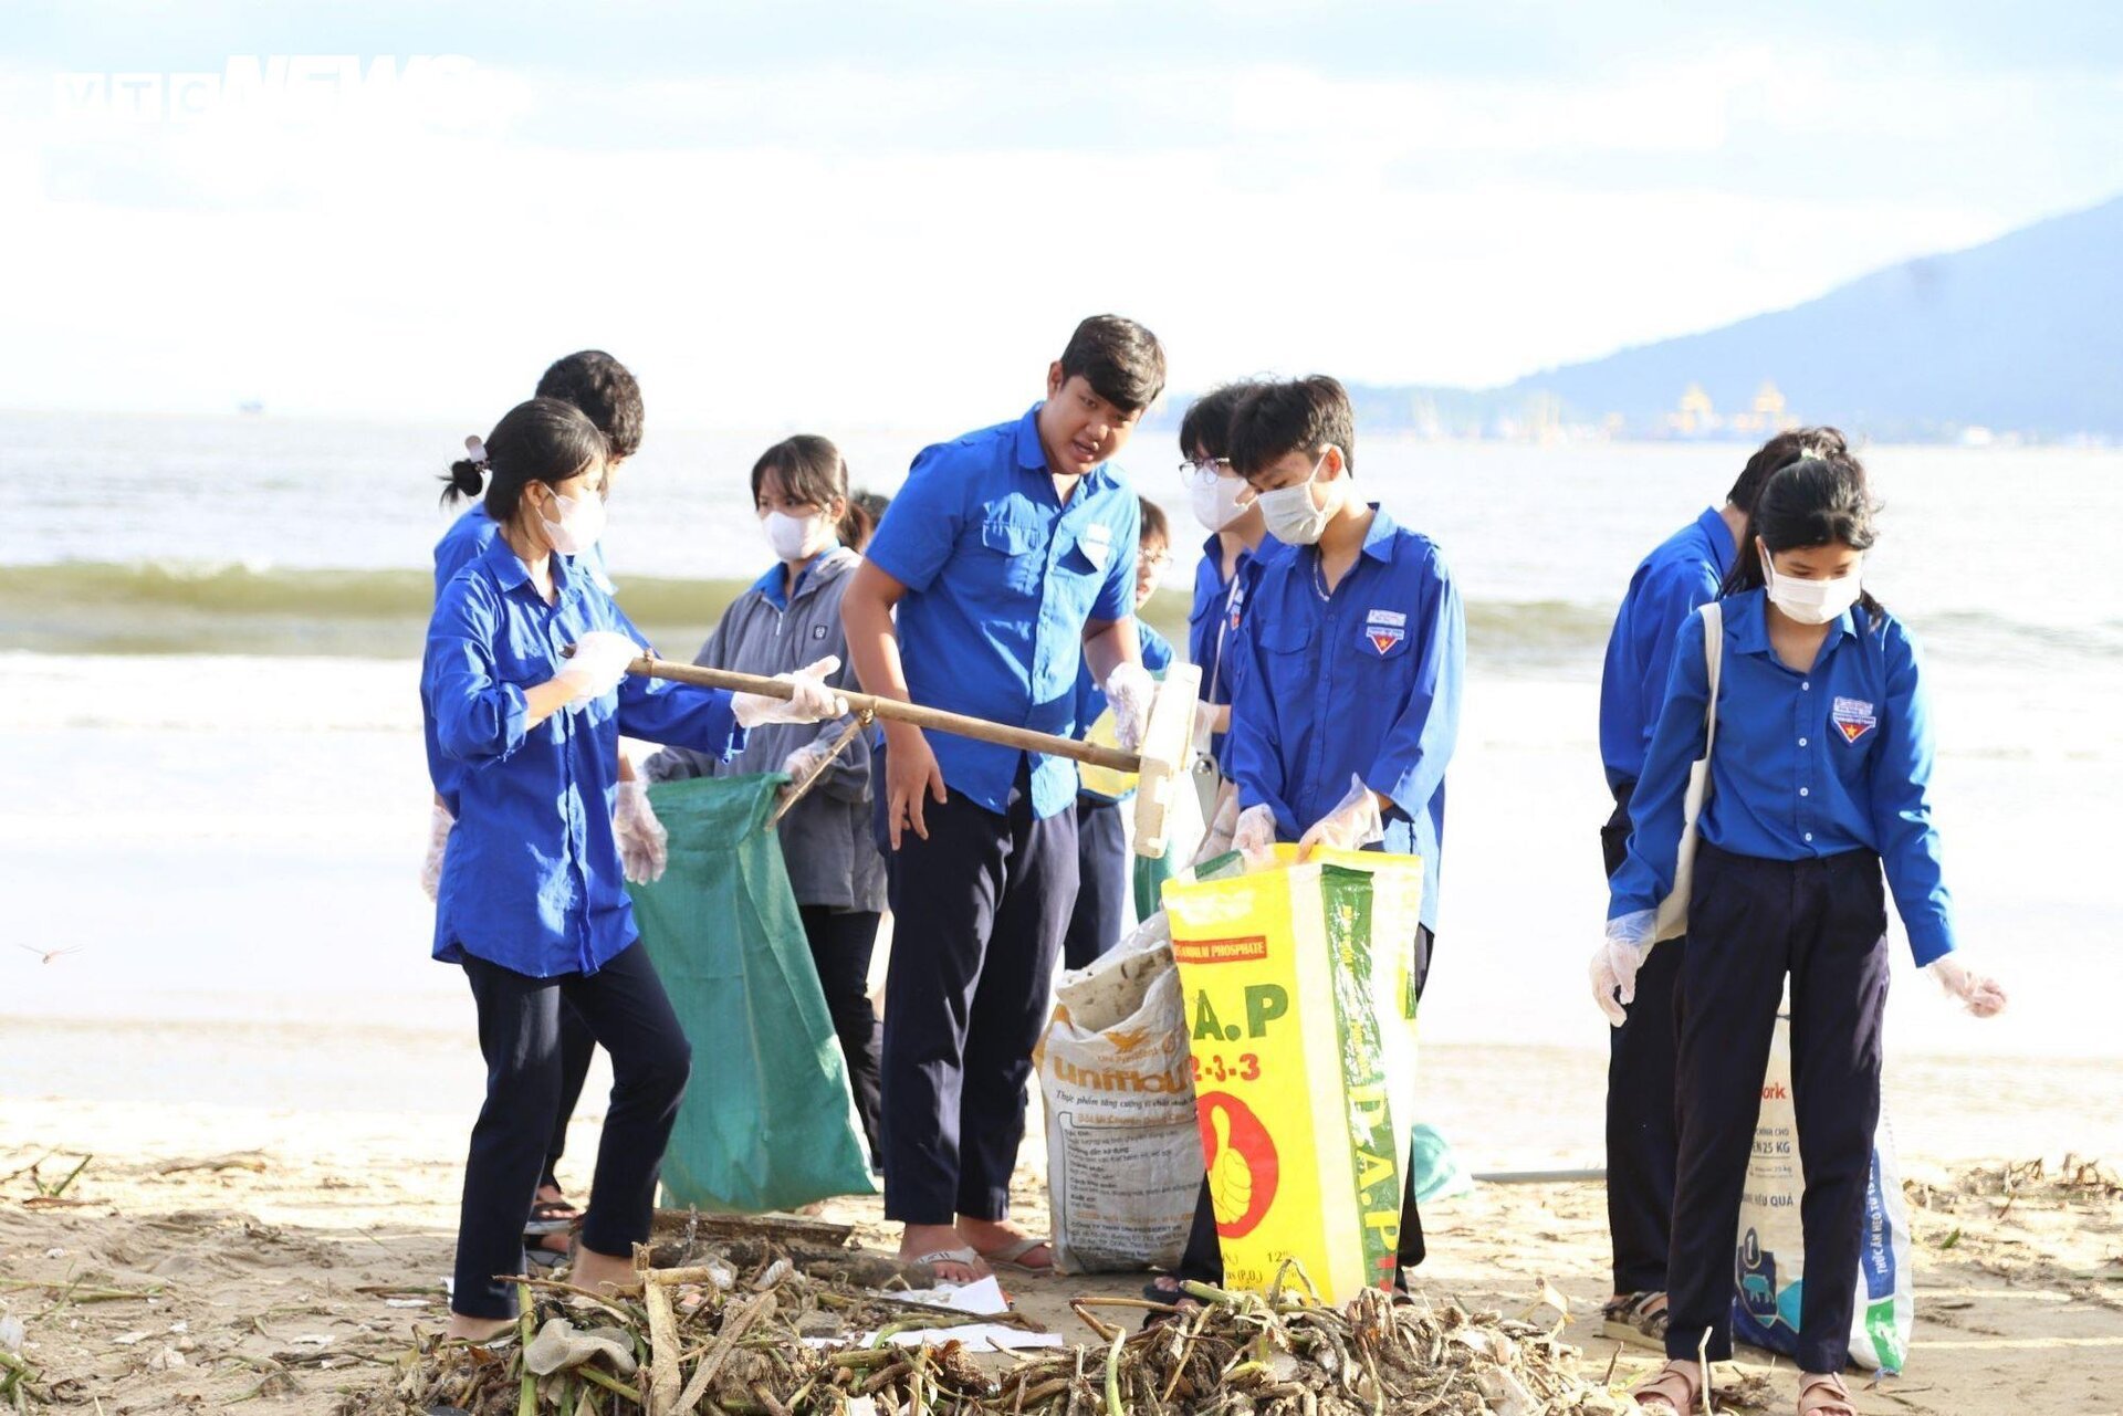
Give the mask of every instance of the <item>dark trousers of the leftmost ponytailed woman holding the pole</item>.
<path id="1" fill-rule="evenodd" d="M 582 1219 L 582 1244 L 594 1253 L 631 1255 L 650 1238 L 656 1176 L 692 1049 L 639 943 L 594 974 L 531 979 L 467 957 L 465 979 L 480 1008 L 486 1106 L 465 1157 L 450 1308 L 471 1318 L 507 1318 L 516 1312 L 516 1287 L 501 1276 L 522 1272 L 524 1214 L 560 1106 L 563 1000 L 611 1053 L 611 1106 Z"/>

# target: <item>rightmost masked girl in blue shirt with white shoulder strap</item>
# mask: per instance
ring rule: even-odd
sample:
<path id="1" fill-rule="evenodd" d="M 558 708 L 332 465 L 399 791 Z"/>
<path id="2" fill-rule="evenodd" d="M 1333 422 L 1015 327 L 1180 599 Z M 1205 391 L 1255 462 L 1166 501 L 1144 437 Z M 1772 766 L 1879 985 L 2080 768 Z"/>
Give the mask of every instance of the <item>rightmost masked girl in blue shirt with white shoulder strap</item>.
<path id="1" fill-rule="evenodd" d="M 1673 890 L 1688 771 L 1715 711 L 1675 1002 L 1669 1363 L 1637 1388 L 1652 1412 L 1696 1412 L 1698 1352 L 1732 1352 L 1732 1231 L 1785 977 L 1807 1176 L 1800 1416 L 1856 1416 L 1839 1374 L 1879 1123 L 1887 894 L 1919 966 L 1979 1017 L 2004 1006 L 1996 981 L 1953 957 L 1921 671 L 1909 631 L 1864 592 L 1872 537 L 1864 467 L 1847 452 L 1771 478 L 1718 601 L 1718 701 L 1696 611 L 1630 798 L 1628 858 L 1592 960 L 1592 994 L 1616 1025 Z"/>

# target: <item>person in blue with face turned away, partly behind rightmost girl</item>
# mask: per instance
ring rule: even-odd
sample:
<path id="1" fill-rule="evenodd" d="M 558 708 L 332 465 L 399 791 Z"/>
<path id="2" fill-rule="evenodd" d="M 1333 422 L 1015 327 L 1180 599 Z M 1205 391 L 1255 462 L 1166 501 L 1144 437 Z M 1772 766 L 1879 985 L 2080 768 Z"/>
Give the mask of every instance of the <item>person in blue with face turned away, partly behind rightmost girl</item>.
<path id="1" fill-rule="evenodd" d="M 1698 607 L 1718 599 L 1732 571 L 1732 548 L 1747 533 L 1754 501 L 1771 473 L 1811 452 L 1845 452 L 1836 429 L 1792 429 L 1762 444 L 1741 469 L 1722 507 L 1667 537 L 1628 580 L 1607 637 L 1599 686 L 1599 745 L 1613 792 L 1601 828 L 1611 877 L 1628 853 L 1628 800 L 1643 775 L 1643 754 L 1667 701 L 1673 639 Z M 1652 949 L 1637 970 L 1628 1021 L 1607 1049 L 1607 1233 L 1613 1244 L 1613 1297 L 1603 1316 L 1609 1337 L 1664 1340 L 1667 1229 L 1673 1219 L 1673 1165 L 1679 1134 L 1673 1115 L 1673 981 L 1686 938 Z"/>

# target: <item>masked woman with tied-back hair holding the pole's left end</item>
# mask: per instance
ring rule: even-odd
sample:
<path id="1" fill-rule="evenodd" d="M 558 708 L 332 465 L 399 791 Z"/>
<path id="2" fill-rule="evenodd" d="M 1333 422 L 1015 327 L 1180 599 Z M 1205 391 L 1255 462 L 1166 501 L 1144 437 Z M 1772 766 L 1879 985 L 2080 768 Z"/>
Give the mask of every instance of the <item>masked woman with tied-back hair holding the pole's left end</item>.
<path id="1" fill-rule="evenodd" d="M 435 957 L 465 968 L 486 1104 L 471 1132 L 450 1337 L 488 1340 L 516 1312 L 522 1216 L 560 1102 L 560 1002 L 611 1055 L 611 1104 L 573 1265 L 626 1282 L 690 1047 L 635 936 L 611 826 L 618 735 L 728 754 L 762 722 L 845 711 L 830 660 L 783 675 L 794 698 L 628 675 L 639 631 L 582 569 L 603 531 L 609 448 L 558 399 L 520 403 L 450 484 L 486 482 L 501 535 L 435 599 L 420 669 L 429 775 L 452 819 Z"/>

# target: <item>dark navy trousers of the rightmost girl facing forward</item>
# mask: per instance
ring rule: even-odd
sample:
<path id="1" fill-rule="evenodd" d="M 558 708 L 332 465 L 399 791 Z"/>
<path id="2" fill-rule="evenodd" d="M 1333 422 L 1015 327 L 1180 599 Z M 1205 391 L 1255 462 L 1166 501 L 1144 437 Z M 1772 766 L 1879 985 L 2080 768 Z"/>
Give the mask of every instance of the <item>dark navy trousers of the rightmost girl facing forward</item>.
<path id="1" fill-rule="evenodd" d="M 1681 1117 L 1667 1261 L 1667 1354 L 1732 1354 L 1732 1244 L 1762 1070 L 1792 977 L 1792 1106 L 1807 1193 L 1798 1367 L 1841 1371 L 1879 1125 L 1887 904 L 1879 856 L 1758 860 L 1696 847 L 1681 957 Z"/>

